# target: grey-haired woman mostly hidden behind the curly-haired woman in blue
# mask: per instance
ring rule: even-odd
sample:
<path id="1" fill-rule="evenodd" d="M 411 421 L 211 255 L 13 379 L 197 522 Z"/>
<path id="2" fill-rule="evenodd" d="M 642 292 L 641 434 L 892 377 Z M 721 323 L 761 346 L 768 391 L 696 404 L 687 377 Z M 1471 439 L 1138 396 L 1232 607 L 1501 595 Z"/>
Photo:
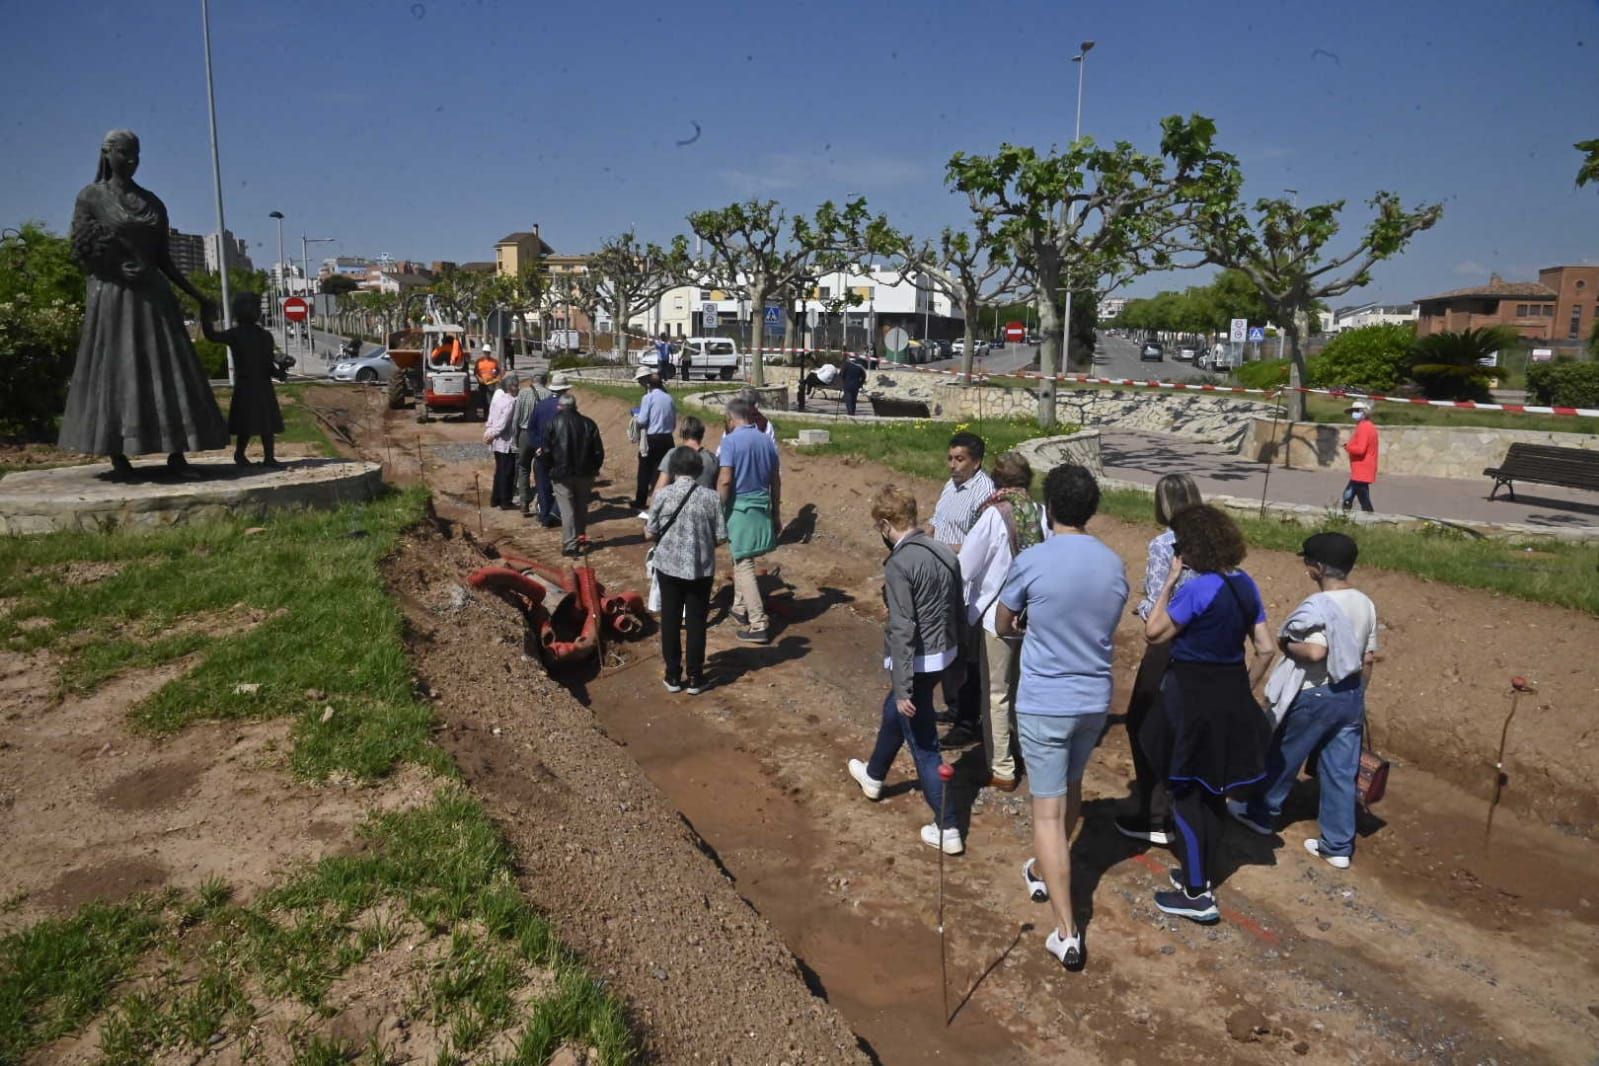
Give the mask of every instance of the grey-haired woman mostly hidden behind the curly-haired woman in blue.
<path id="1" fill-rule="evenodd" d="M 1154 483 L 1154 521 L 1162 529 L 1150 540 L 1150 558 L 1143 567 L 1143 599 L 1138 601 L 1137 612 L 1145 622 L 1150 611 L 1166 588 L 1166 579 L 1172 572 L 1172 545 L 1177 534 L 1172 532 L 1172 518 L 1183 508 L 1204 503 L 1199 486 L 1185 473 L 1169 473 Z M 1178 574 L 1178 585 L 1186 575 Z M 1134 812 L 1116 818 L 1116 831 L 1135 841 L 1150 844 L 1170 844 L 1170 798 L 1166 791 L 1166 778 L 1150 762 L 1143 746 L 1138 743 L 1138 730 L 1143 721 L 1161 700 L 1161 678 L 1172 657 L 1170 641 L 1148 644 L 1138 673 L 1132 681 L 1132 698 L 1127 700 L 1127 746 L 1132 748 L 1134 775 Z"/>

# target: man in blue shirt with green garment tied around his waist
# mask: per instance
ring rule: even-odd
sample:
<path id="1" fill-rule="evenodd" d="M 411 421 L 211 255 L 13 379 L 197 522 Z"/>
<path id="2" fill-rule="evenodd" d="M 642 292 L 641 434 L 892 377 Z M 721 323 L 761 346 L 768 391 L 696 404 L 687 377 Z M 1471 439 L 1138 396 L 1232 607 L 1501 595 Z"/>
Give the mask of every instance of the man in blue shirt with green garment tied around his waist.
<path id="1" fill-rule="evenodd" d="M 728 515 L 728 545 L 732 550 L 732 619 L 737 636 L 750 644 L 766 644 L 766 604 L 755 574 L 755 559 L 777 547 L 782 529 L 782 476 L 777 446 L 752 419 L 755 406 L 736 396 L 728 401 L 728 430 L 716 462 L 716 492 Z"/>

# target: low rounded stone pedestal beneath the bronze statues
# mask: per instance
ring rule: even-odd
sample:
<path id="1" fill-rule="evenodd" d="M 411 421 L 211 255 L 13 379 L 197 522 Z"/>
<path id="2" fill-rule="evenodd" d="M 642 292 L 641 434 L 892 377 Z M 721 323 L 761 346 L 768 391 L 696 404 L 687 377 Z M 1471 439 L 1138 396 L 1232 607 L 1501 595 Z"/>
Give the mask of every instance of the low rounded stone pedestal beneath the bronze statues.
<path id="1" fill-rule="evenodd" d="M 337 507 L 382 491 L 382 468 L 341 459 L 294 459 L 281 470 L 192 460 L 200 478 L 161 476 L 160 463 L 138 467 L 147 479 L 107 481 L 110 463 L 27 470 L 0 478 L 0 534 L 110 531 L 179 526 L 216 518 L 262 518 L 291 507 Z"/>

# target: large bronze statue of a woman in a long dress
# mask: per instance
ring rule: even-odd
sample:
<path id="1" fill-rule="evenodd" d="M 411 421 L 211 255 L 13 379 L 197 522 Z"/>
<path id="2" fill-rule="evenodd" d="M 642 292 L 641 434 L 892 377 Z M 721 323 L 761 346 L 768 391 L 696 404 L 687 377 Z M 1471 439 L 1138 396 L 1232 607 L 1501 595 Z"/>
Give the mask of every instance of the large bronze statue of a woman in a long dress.
<path id="1" fill-rule="evenodd" d="M 72 254 L 88 284 L 59 446 L 110 455 L 114 478 L 133 475 L 128 455 L 150 452 L 187 475 L 184 452 L 224 447 L 227 422 L 171 284 L 201 307 L 206 299 L 173 265 L 166 205 L 134 184 L 136 169 L 139 137 L 112 129 L 72 211 Z"/>

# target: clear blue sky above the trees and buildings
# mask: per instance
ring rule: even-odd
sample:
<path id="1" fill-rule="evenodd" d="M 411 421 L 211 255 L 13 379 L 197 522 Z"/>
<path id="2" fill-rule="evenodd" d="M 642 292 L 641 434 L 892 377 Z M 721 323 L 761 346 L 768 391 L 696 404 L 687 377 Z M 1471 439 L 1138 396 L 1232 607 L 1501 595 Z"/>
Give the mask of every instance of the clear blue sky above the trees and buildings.
<path id="1" fill-rule="evenodd" d="M 173 222 L 214 229 L 198 6 L 0 0 L 0 225 L 64 229 L 130 126 Z M 665 240 L 752 195 L 862 193 L 931 233 L 963 221 L 951 152 L 1070 139 L 1084 38 L 1087 134 L 1153 149 L 1201 112 L 1250 195 L 1442 200 L 1369 299 L 1599 262 L 1570 147 L 1599 136 L 1599 0 L 213 0 L 211 22 L 229 227 L 257 264 L 272 209 L 296 251 L 456 261 L 532 222 L 563 253 Z"/>

